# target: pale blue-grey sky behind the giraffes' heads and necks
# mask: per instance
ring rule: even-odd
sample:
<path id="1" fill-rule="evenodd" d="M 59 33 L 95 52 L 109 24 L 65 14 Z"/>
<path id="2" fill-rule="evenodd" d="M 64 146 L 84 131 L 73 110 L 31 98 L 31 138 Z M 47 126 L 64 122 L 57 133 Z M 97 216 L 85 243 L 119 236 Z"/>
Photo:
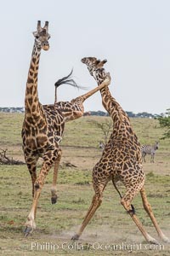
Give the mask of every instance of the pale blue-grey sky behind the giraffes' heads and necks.
<path id="1" fill-rule="evenodd" d="M 62 85 L 58 101 L 96 87 L 82 57 L 107 59 L 110 90 L 133 113 L 165 113 L 170 108 L 169 0 L 0 0 L 0 107 L 23 107 L 37 20 L 49 21 L 50 49 L 38 73 L 42 104 L 54 103 L 54 83 L 71 72 L 77 90 Z M 85 111 L 105 111 L 97 92 Z"/>

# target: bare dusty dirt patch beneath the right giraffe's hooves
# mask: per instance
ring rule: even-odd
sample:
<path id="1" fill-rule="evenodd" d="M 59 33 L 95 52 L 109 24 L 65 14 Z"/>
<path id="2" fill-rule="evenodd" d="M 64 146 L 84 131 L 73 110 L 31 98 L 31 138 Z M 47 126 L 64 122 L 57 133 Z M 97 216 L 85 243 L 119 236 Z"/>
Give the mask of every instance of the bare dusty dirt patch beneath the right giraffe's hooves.
<path id="1" fill-rule="evenodd" d="M 71 237 L 75 235 L 78 228 L 75 226 L 60 234 L 53 234 L 48 236 L 48 240 L 55 241 L 59 245 L 61 253 L 62 250 L 66 250 L 71 255 L 88 255 L 88 253 L 94 253 L 93 255 L 128 255 L 133 253 L 133 255 L 139 256 L 167 256 L 170 253 L 170 245 L 161 241 L 159 241 L 159 245 L 150 245 L 144 241 L 138 230 L 129 234 L 127 230 L 123 230 L 123 227 L 113 230 L 107 225 L 85 230 L 78 241 L 71 241 Z M 169 235 L 167 232 L 165 233 Z M 44 241 L 46 239 L 47 237 L 44 236 Z"/>

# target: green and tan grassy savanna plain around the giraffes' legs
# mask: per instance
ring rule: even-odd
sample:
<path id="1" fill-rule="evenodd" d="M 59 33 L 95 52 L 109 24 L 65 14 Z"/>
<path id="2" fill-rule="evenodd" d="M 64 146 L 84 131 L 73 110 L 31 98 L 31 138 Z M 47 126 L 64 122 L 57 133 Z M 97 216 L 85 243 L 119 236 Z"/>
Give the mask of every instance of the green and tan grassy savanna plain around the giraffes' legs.
<path id="1" fill-rule="evenodd" d="M 8 156 L 24 160 L 20 130 L 23 114 L 0 113 L 0 148 Z M 61 147 L 63 156 L 58 177 L 58 202 L 51 204 L 51 170 L 42 189 L 37 209 L 37 229 L 24 238 L 23 225 L 31 208 L 31 177 L 26 166 L 0 166 L 0 253 L 2 255 L 170 255 L 170 246 L 159 240 L 140 196 L 133 205 L 137 215 L 160 246 L 150 247 L 132 219 L 124 211 L 119 195 L 109 183 L 103 203 L 79 241 L 71 241 L 91 203 L 94 189 L 92 169 L 101 156 L 102 131 L 91 120 L 104 122 L 109 117 L 84 117 L 65 127 Z M 155 119 L 132 119 L 140 143 L 154 143 L 163 130 Z M 155 163 L 146 157 L 144 172 L 148 199 L 158 223 L 170 238 L 170 142 L 161 140 Z M 67 167 L 66 162 L 77 167 Z M 39 167 L 40 168 L 39 163 Z M 122 184 L 119 189 L 124 191 Z"/>

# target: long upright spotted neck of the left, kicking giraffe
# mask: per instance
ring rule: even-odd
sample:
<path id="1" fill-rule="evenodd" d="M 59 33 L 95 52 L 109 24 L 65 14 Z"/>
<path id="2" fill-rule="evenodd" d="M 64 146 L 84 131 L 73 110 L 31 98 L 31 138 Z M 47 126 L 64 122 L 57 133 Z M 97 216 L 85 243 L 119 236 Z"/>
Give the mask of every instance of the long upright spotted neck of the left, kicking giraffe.
<path id="1" fill-rule="evenodd" d="M 38 101 L 37 93 L 37 74 L 39 68 L 40 55 L 41 49 L 38 49 L 35 43 L 32 50 L 31 64 L 26 83 L 25 108 L 27 115 L 38 115 L 38 113 L 40 113 L 41 104 Z"/>

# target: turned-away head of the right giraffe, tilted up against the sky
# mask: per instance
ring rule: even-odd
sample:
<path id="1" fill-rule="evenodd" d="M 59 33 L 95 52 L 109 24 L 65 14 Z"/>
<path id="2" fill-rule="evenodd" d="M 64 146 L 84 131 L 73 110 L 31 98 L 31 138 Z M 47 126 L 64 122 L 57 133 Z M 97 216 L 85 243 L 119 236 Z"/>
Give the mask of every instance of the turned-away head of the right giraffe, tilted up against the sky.
<path id="1" fill-rule="evenodd" d="M 107 60 L 104 61 L 100 61 L 97 60 L 95 57 L 85 57 L 82 58 L 82 63 L 86 64 L 88 67 L 88 71 L 89 73 L 94 77 L 94 79 L 97 79 L 97 77 L 101 76 L 101 79 L 105 79 L 105 69 L 102 68 L 104 66 L 104 64 L 107 62 Z"/>

